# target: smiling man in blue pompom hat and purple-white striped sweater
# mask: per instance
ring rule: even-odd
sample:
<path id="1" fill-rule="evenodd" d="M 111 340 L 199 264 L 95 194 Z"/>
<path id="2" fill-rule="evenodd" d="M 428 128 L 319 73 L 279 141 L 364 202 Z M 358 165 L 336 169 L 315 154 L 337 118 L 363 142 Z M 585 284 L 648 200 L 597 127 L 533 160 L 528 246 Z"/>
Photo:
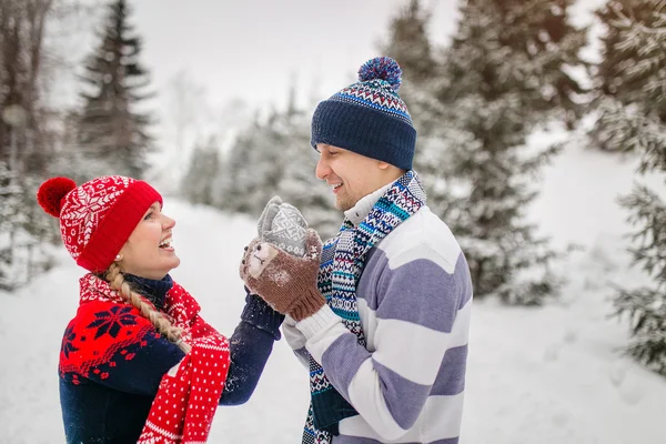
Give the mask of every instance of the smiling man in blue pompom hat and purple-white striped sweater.
<path id="1" fill-rule="evenodd" d="M 344 212 L 341 232 L 321 264 L 316 236 L 304 259 L 254 241 L 245 259 L 261 256 L 262 269 L 241 275 L 293 319 L 284 335 L 311 373 L 304 443 L 457 443 L 470 270 L 412 170 L 400 67 L 377 58 L 359 73 L 312 119 L 316 176 Z"/>

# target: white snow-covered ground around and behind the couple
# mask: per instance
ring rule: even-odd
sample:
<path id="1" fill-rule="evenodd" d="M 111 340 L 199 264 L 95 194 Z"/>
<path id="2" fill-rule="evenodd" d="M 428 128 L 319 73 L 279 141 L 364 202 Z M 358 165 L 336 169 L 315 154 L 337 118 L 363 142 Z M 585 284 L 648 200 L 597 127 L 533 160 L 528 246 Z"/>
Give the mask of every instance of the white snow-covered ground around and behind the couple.
<path id="1" fill-rule="evenodd" d="M 666 379 L 622 357 L 625 325 L 606 317 L 608 282 L 642 279 L 626 266 L 627 228 L 615 203 L 632 175 L 628 161 L 576 148 L 548 169 L 531 215 L 555 244 L 585 249 L 562 264 L 569 282 L 548 306 L 475 303 L 462 443 L 666 442 Z M 209 322 L 231 333 L 243 300 L 238 261 L 253 222 L 173 200 L 165 211 L 178 220 L 182 265 L 173 276 Z M 28 287 L 0 293 L 0 443 L 63 441 L 58 351 L 82 272 L 59 254 L 59 265 Z M 300 442 L 306 404 L 306 372 L 281 341 L 253 398 L 220 407 L 210 442 Z"/>

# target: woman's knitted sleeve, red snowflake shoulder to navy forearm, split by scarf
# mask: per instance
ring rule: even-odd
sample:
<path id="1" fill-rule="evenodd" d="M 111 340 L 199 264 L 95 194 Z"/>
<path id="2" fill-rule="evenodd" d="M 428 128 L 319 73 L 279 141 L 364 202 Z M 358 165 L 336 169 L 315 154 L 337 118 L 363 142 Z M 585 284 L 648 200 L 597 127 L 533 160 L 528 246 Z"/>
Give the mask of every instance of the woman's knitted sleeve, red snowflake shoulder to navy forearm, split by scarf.
<path id="1" fill-rule="evenodd" d="M 230 339 L 231 362 L 222 405 L 250 398 L 273 342 L 280 339 L 284 319 L 256 295 L 248 294 L 245 300 L 241 322 Z M 133 307 L 91 304 L 64 334 L 60 373 L 74 384 L 89 380 L 120 392 L 154 396 L 162 376 L 183 356 Z"/>

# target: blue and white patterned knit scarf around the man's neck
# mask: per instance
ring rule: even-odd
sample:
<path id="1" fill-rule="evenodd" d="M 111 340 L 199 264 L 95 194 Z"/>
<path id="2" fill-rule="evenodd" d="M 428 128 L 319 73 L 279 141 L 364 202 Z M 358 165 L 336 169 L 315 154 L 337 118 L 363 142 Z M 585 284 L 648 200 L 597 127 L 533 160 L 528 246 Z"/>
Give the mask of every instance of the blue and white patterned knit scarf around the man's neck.
<path id="1" fill-rule="evenodd" d="M 424 204 L 425 191 L 418 176 L 415 171 L 407 171 L 380 198 L 356 229 L 345 218 L 337 235 L 323 246 L 319 290 L 363 346 L 365 337 L 359 316 L 356 285 L 365 266 L 367 252 Z M 331 385 L 324 370 L 312 356 L 310 395 L 303 443 L 331 443 L 332 436 L 339 434 L 340 421 L 357 413 Z"/>

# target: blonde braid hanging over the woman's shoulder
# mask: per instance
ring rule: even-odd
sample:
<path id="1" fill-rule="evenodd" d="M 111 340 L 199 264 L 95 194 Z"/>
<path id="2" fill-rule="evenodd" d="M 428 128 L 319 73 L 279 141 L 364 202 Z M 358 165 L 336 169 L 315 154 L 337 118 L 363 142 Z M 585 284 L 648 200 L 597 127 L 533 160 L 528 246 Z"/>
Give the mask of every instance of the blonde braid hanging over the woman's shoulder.
<path id="1" fill-rule="evenodd" d="M 141 312 L 143 317 L 148 319 L 151 324 L 154 325 L 158 332 L 162 333 L 169 341 L 173 342 L 184 353 L 189 353 L 192 347 L 190 344 L 181 340 L 182 330 L 171 325 L 171 322 L 162 313 L 153 310 L 149 304 L 143 301 L 143 297 L 130 287 L 130 284 L 125 282 L 120 265 L 115 262 L 107 270 L 105 279 L 113 290 L 131 303 L 137 310 Z"/>

